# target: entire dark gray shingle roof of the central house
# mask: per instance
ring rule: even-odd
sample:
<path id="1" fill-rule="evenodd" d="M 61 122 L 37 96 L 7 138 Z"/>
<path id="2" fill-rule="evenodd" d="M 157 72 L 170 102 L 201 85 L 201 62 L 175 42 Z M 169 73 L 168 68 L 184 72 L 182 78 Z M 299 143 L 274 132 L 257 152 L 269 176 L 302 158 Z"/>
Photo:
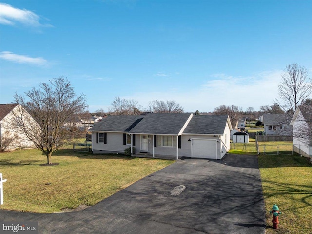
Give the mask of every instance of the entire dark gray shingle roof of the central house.
<path id="1" fill-rule="evenodd" d="M 90 131 L 177 135 L 190 116 L 191 113 L 159 113 L 148 114 L 145 116 L 107 116 L 92 127 Z M 227 115 L 194 115 L 183 133 L 222 135 L 227 120 Z"/>

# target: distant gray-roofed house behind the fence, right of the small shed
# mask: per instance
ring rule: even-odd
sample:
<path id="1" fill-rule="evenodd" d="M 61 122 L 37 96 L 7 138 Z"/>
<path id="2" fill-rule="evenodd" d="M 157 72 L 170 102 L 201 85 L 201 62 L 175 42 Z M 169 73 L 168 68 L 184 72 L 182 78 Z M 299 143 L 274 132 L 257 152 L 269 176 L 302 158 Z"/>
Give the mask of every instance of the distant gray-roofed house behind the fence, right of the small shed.
<path id="1" fill-rule="evenodd" d="M 292 136 L 291 120 L 288 114 L 264 114 L 262 122 L 265 134 Z"/>

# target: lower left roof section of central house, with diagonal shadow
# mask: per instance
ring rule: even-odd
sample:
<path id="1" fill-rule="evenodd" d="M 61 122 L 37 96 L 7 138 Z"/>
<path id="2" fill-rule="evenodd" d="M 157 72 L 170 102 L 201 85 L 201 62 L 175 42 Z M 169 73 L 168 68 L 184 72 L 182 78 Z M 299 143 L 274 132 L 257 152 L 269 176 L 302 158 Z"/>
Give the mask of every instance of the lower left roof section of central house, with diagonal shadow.
<path id="1" fill-rule="evenodd" d="M 90 131 L 129 132 L 143 118 L 141 115 L 109 115 L 90 128 Z"/>

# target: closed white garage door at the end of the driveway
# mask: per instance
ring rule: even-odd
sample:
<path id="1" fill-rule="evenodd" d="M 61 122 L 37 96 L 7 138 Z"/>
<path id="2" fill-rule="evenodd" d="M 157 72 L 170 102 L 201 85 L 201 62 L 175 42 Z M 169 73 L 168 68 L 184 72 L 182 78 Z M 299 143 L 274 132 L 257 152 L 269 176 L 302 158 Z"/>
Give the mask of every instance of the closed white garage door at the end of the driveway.
<path id="1" fill-rule="evenodd" d="M 192 139 L 192 157 L 217 159 L 216 140 Z"/>

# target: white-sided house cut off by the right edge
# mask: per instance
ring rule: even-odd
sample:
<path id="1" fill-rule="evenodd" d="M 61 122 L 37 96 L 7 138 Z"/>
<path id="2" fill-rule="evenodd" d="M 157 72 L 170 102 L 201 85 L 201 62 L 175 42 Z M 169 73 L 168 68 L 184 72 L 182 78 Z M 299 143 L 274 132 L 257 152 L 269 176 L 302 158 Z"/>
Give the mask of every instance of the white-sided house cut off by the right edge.
<path id="1" fill-rule="evenodd" d="M 297 106 L 291 125 L 293 129 L 293 151 L 312 158 L 312 106 Z"/>

